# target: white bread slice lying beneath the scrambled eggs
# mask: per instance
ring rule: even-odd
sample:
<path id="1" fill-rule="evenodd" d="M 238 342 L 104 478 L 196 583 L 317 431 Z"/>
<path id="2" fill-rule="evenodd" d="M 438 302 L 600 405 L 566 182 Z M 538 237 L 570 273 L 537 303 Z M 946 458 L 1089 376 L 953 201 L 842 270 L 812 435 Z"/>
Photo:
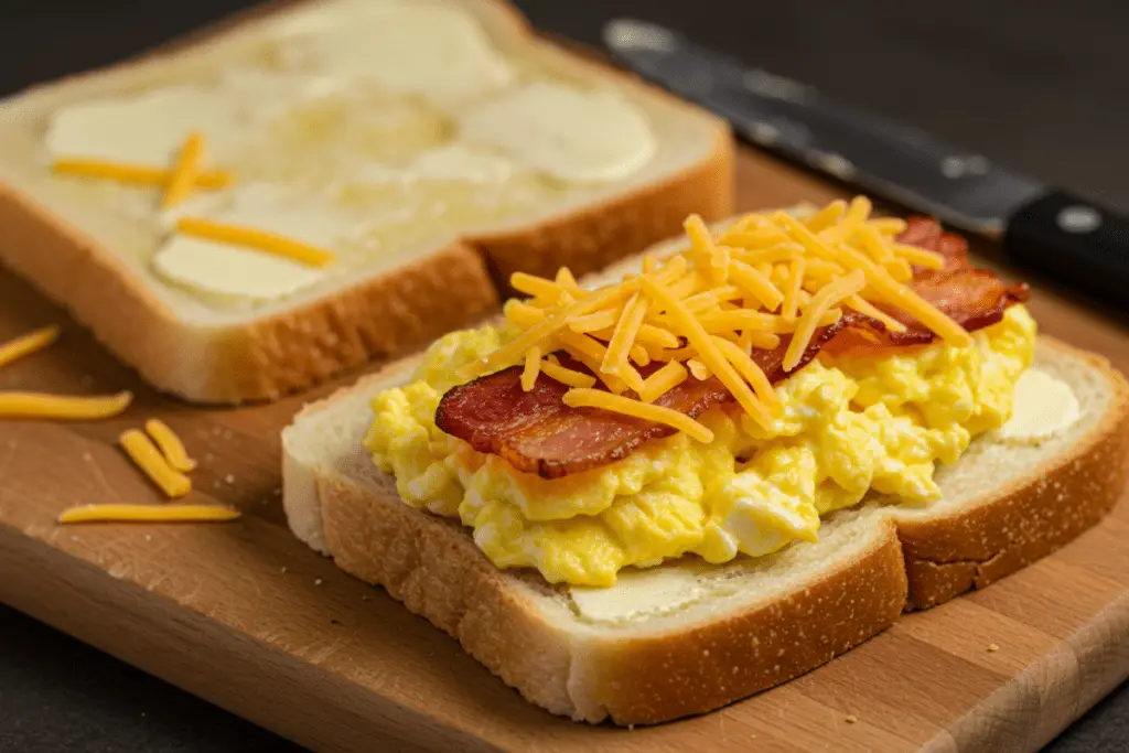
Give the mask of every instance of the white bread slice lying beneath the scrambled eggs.
<path id="1" fill-rule="evenodd" d="M 400 361 L 309 405 L 286 429 L 290 527 L 530 701 L 589 723 L 716 709 L 830 660 L 903 610 L 1014 572 L 1109 511 L 1129 453 L 1124 379 L 1104 359 L 1041 338 L 1033 367 L 1078 402 L 1068 429 L 1038 444 L 974 439 L 937 469 L 942 497 L 926 507 L 868 500 L 825 518 L 816 543 L 723 566 L 686 558 L 624 571 L 594 593 L 498 569 L 457 520 L 403 504 L 361 443 L 369 399 L 413 366 Z"/>

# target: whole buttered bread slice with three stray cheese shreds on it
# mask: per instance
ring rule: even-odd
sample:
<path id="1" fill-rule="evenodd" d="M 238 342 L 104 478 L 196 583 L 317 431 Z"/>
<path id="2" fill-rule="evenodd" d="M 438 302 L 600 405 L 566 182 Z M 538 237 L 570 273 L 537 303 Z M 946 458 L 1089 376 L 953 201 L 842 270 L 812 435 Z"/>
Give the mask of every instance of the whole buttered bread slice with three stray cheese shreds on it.
<path id="1" fill-rule="evenodd" d="M 270 400 L 732 200 L 726 125 L 500 0 L 310 0 L 0 102 L 0 261 L 154 385 Z"/>

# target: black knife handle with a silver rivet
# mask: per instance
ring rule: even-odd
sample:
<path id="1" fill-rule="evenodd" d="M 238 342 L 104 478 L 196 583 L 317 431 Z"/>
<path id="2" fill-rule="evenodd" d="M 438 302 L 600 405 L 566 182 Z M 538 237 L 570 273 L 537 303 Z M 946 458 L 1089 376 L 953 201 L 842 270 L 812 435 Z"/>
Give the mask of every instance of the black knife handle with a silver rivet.
<path id="1" fill-rule="evenodd" d="M 1004 234 L 1008 257 L 1129 308 L 1129 219 L 1051 190 L 1017 212 Z"/>

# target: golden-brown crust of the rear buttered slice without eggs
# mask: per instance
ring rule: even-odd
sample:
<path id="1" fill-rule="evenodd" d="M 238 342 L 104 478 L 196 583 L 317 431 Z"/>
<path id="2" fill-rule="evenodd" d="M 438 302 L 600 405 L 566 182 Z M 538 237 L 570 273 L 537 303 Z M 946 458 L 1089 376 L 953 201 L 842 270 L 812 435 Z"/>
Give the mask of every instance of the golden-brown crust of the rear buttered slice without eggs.
<path id="1" fill-rule="evenodd" d="M 300 5 L 283 3 L 282 10 Z M 505 0 L 496 5 L 516 38 L 533 36 L 516 9 Z M 191 35 L 191 43 L 174 42 L 142 60 L 205 44 L 215 35 L 261 17 L 252 12 L 221 21 Z M 675 102 L 634 77 L 552 46 L 563 64 L 590 69 L 647 97 Z M 114 68 L 49 86 L 102 76 Z M 549 273 L 568 265 L 583 274 L 669 236 L 690 213 L 708 220 L 730 213 L 732 133 L 724 121 L 695 112 L 714 126 L 710 151 L 663 181 L 542 222 L 458 239 L 406 266 L 245 323 L 205 329 L 177 319 L 111 249 L 2 182 L 0 262 L 64 306 L 154 386 L 195 403 L 272 401 L 480 318 L 497 308 L 498 289 L 508 289 L 500 282 L 513 271 Z"/>

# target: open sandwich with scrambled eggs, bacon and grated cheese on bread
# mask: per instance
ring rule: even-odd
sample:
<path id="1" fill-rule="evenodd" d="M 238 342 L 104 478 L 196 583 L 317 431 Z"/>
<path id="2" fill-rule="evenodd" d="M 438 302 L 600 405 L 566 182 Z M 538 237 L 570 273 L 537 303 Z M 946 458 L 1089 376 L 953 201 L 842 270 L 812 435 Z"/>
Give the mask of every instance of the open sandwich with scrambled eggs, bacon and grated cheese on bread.
<path id="1" fill-rule="evenodd" d="M 1112 505 L 1123 379 L 936 222 L 858 198 L 685 227 L 590 282 L 515 275 L 502 321 L 307 409 L 295 533 L 534 702 L 632 724 L 796 676 Z"/>

